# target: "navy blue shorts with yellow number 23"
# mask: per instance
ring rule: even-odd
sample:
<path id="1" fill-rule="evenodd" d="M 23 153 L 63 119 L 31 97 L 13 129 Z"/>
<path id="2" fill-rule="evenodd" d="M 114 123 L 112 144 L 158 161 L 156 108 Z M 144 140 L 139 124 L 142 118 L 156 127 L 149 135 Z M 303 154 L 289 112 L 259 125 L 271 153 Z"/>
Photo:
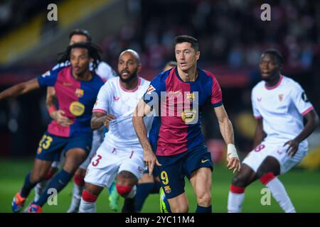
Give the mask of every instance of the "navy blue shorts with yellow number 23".
<path id="1" fill-rule="evenodd" d="M 52 135 L 46 131 L 40 140 L 36 158 L 46 161 L 58 161 L 61 153 L 66 153 L 72 148 L 81 148 L 90 153 L 92 135 L 80 135 L 71 138 L 64 138 Z"/>

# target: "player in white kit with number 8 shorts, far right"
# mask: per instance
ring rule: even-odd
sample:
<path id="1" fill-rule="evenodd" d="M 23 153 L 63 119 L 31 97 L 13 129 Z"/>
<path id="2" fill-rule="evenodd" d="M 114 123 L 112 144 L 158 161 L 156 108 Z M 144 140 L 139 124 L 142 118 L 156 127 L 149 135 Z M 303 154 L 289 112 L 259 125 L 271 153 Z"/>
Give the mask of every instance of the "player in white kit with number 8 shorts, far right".
<path id="1" fill-rule="evenodd" d="M 274 49 L 261 56 L 262 81 L 252 89 L 252 109 L 258 121 L 254 149 L 233 177 L 228 212 L 241 212 L 245 187 L 256 179 L 270 189 L 284 212 L 296 212 L 277 176 L 302 161 L 308 151 L 306 138 L 319 125 L 319 117 L 304 89 L 281 74 L 282 62 L 282 55 Z"/>

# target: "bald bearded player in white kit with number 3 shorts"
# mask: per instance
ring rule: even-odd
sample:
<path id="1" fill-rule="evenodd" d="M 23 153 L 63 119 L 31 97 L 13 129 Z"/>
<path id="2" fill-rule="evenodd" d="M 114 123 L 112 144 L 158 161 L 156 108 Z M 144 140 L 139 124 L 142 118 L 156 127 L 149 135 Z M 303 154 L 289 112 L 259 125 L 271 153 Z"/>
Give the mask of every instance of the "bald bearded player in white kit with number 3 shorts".
<path id="1" fill-rule="evenodd" d="M 132 114 L 139 99 L 149 87 L 149 81 L 138 76 L 141 70 L 139 55 L 124 50 L 119 55 L 119 77 L 109 79 L 100 89 L 93 108 L 93 130 L 109 125 L 85 176 L 80 212 L 95 212 L 95 201 L 104 187 L 116 178 L 117 192 L 125 198 L 122 212 L 135 212 L 136 184 L 144 171 L 143 149 L 132 125 Z M 151 128 L 152 117 L 146 117 Z"/>

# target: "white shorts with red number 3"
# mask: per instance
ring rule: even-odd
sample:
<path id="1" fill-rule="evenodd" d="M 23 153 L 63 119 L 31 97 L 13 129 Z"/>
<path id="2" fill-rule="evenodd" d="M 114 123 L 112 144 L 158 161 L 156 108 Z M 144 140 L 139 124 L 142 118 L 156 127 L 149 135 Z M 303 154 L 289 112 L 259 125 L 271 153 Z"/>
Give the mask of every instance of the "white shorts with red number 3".
<path id="1" fill-rule="evenodd" d="M 132 172 L 139 180 L 144 171 L 141 147 L 123 148 L 104 141 L 92 158 L 85 182 L 101 187 L 110 187 L 117 174 L 123 170 Z"/>

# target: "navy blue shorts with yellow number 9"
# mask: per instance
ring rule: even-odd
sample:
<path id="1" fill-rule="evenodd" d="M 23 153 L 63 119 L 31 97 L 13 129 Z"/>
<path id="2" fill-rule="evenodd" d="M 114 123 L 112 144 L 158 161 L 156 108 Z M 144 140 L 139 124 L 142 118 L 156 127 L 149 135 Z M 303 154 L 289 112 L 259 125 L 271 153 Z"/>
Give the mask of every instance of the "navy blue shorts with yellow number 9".
<path id="1" fill-rule="evenodd" d="M 213 170 L 211 154 L 201 144 L 178 155 L 156 156 L 161 166 L 156 166 L 166 197 L 172 199 L 184 192 L 184 177 L 190 180 L 193 171 L 202 167 Z"/>

